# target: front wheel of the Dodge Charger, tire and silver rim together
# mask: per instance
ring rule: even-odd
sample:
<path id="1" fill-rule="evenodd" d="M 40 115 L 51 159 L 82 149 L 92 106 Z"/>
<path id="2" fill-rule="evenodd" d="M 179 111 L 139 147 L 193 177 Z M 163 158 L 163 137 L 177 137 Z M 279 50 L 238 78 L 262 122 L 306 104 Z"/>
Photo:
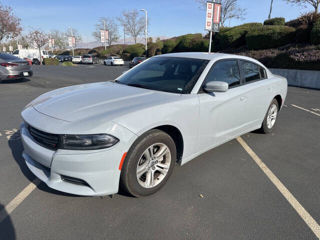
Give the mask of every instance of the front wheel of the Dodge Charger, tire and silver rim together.
<path id="1" fill-rule="evenodd" d="M 142 197 L 158 191 L 168 180 L 176 160 L 172 138 L 158 129 L 151 129 L 135 140 L 126 154 L 121 170 L 125 190 Z"/>

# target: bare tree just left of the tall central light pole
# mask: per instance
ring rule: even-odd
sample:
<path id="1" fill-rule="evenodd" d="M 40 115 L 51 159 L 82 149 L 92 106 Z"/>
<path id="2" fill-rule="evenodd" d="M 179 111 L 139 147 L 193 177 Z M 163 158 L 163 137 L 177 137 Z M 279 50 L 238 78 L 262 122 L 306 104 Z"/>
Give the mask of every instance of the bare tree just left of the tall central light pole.
<path id="1" fill-rule="evenodd" d="M 116 18 L 124 26 L 125 33 L 130 35 L 134 43 L 136 43 L 136 38 L 138 35 L 144 34 L 145 29 L 145 18 L 140 15 L 136 9 L 133 10 L 123 10 L 121 16 Z M 149 19 L 147 19 L 147 24 L 149 24 Z"/>

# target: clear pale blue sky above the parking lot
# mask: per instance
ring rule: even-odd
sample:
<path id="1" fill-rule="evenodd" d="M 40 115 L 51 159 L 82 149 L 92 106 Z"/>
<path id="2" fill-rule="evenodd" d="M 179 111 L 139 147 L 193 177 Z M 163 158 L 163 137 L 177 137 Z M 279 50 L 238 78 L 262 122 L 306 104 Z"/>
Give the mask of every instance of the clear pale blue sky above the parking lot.
<path id="1" fill-rule="evenodd" d="M 77 28 L 86 41 L 91 36 L 94 24 L 100 16 L 116 17 L 124 9 L 147 10 L 150 19 L 149 36 L 178 36 L 186 33 L 204 33 L 205 11 L 198 8 L 195 0 L 0 0 L 2 4 L 13 8 L 21 18 L 23 33 L 29 27 L 44 31 L 67 27 Z M 238 0 L 241 7 L 247 8 L 245 20 L 232 19 L 230 24 L 245 22 L 263 22 L 267 19 L 271 0 Z M 313 8 L 314 9 L 314 8 Z M 311 6 L 292 6 L 283 0 L 273 0 L 271 17 L 282 16 L 285 20 L 296 18 L 300 12 L 312 10 Z M 141 15 L 144 16 L 144 12 Z M 227 25 L 229 22 L 227 21 Z M 123 31 L 120 30 L 120 38 Z"/>

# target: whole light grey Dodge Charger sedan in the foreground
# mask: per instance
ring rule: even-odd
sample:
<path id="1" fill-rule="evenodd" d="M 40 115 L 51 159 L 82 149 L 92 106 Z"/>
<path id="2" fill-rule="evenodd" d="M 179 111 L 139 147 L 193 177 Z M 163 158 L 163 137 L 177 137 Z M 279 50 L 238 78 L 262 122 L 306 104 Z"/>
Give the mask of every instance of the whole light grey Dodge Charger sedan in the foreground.
<path id="1" fill-rule="evenodd" d="M 176 163 L 246 132 L 272 131 L 286 91 L 284 77 L 249 57 L 157 55 L 113 82 L 64 87 L 31 101 L 21 113 L 23 157 L 60 191 L 107 195 L 120 183 L 146 196 Z"/>

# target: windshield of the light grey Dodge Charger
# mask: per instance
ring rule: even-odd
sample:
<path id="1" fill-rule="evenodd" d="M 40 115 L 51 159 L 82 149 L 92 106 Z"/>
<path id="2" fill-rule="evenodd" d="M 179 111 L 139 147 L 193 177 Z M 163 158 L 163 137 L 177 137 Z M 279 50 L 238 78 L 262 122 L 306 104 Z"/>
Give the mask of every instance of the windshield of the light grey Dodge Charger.
<path id="1" fill-rule="evenodd" d="M 115 82 L 130 86 L 190 93 L 208 60 L 186 57 L 153 57 L 138 64 Z"/>

